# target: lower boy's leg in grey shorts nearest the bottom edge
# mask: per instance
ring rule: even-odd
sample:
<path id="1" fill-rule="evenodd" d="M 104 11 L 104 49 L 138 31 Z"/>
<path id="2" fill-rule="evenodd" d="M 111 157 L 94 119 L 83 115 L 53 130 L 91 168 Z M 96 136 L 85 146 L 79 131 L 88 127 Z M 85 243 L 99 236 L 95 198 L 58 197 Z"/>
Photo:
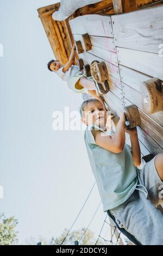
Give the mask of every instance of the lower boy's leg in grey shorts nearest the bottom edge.
<path id="1" fill-rule="evenodd" d="M 163 215 L 142 191 L 135 190 L 126 202 L 110 211 L 118 226 L 141 245 L 163 245 Z"/>

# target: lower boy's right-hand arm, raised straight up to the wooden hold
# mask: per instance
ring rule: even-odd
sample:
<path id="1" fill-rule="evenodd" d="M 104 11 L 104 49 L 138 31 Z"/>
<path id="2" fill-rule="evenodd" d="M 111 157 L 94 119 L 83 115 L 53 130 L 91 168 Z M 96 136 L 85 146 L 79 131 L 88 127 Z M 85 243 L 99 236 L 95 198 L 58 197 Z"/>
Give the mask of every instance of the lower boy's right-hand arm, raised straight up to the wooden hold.
<path id="1" fill-rule="evenodd" d="M 131 154 L 133 156 L 133 162 L 135 166 L 140 166 L 141 164 L 141 151 L 139 145 L 139 139 L 137 137 L 136 127 L 134 129 L 128 130 L 125 129 L 130 135 L 131 141 Z"/>

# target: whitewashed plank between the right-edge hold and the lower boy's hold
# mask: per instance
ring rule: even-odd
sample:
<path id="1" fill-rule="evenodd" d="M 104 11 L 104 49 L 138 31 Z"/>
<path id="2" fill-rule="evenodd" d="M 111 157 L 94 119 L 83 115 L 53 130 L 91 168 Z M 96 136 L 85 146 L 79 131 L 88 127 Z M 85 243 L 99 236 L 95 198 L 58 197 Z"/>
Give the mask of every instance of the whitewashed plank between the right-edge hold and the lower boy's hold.
<path id="1" fill-rule="evenodd" d="M 143 111 L 141 93 L 137 92 L 136 90 L 127 86 L 127 84 L 124 84 L 124 83 L 122 83 L 122 91 L 125 99 L 129 100 L 130 102 L 135 104 L 137 107 L 139 107 Z M 124 99 L 124 103 L 125 103 L 125 99 Z M 163 126 L 163 111 L 159 111 L 157 113 L 148 115 L 148 117 L 151 117 L 153 120 L 158 122 L 161 126 Z"/>

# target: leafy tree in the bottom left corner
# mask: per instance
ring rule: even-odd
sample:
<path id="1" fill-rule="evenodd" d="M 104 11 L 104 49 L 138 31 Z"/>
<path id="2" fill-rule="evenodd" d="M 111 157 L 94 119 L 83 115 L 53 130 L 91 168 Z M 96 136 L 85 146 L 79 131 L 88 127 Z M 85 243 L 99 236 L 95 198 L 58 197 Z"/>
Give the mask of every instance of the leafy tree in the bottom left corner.
<path id="1" fill-rule="evenodd" d="M 14 216 L 6 218 L 4 214 L 0 214 L 0 245 L 13 245 L 18 242 L 15 231 L 17 223 Z"/>

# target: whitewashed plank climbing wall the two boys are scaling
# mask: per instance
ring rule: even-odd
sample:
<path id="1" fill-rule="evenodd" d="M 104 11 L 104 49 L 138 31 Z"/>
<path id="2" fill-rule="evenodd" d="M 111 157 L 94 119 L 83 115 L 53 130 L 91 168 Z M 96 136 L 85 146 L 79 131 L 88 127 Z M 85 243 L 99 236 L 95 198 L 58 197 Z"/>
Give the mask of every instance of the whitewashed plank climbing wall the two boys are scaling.
<path id="1" fill-rule="evenodd" d="M 138 107 L 142 155 L 163 151 L 163 111 L 145 113 L 141 95 L 144 81 L 152 77 L 163 80 L 163 57 L 159 56 L 163 44 L 162 14 L 161 5 L 120 15 L 84 15 L 70 20 L 75 41 L 85 33 L 91 39 L 92 49 L 79 54 L 79 58 L 84 64 L 104 60 L 108 67 L 110 91 L 104 100 L 110 110 L 119 115 L 124 106 Z"/>

